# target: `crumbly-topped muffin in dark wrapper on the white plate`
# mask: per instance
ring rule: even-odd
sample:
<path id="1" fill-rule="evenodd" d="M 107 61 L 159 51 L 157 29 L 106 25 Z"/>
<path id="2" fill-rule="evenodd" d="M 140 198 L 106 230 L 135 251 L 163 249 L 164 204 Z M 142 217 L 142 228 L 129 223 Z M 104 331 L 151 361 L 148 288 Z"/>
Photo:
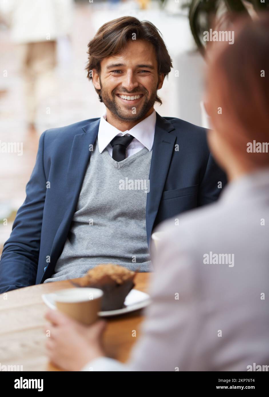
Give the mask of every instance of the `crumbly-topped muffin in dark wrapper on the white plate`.
<path id="1" fill-rule="evenodd" d="M 126 296 L 134 287 L 134 276 L 135 272 L 122 266 L 100 264 L 89 270 L 79 285 L 102 289 L 104 295 L 101 310 L 116 310 L 124 307 Z"/>

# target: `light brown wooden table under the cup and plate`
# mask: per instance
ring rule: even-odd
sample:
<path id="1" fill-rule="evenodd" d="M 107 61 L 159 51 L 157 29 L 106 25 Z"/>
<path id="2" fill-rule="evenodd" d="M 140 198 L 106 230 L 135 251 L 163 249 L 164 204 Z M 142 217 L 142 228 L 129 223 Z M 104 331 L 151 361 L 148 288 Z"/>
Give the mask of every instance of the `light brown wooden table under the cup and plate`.
<path id="1" fill-rule="evenodd" d="M 135 289 L 147 292 L 150 273 L 135 276 Z M 78 280 L 78 279 L 76 279 Z M 69 280 L 16 289 L 0 295 L 0 365 L 23 365 L 23 371 L 57 371 L 45 355 L 44 318 L 48 307 L 41 295 L 72 288 Z M 125 362 L 139 338 L 142 310 L 107 318 L 106 355 Z M 136 330 L 136 337 L 133 337 Z"/>

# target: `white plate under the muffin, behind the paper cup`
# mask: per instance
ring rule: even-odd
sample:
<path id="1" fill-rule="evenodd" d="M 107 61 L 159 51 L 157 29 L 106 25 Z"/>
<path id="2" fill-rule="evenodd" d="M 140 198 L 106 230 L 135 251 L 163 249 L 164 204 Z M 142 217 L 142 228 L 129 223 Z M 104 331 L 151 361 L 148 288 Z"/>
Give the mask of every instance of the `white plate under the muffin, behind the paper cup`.
<path id="1" fill-rule="evenodd" d="M 54 296 L 54 293 L 43 294 L 42 299 L 50 309 L 56 310 Z M 99 312 L 98 314 L 100 317 L 118 316 L 119 314 L 130 313 L 134 312 L 134 310 L 143 309 L 144 307 L 148 306 L 149 303 L 150 298 L 148 294 L 142 291 L 138 291 L 138 289 L 131 289 L 131 291 L 125 298 L 124 308 L 109 310 L 106 312 Z"/>

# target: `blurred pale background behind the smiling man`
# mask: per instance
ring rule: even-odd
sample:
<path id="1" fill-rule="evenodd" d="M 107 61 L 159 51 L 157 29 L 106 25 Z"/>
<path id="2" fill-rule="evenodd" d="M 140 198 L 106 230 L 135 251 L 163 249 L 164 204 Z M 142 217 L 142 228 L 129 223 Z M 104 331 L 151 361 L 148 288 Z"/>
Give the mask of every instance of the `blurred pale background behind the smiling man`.
<path id="1" fill-rule="evenodd" d="M 100 117 L 86 78 L 87 44 L 103 23 L 124 15 L 151 21 L 163 35 L 173 69 L 155 109 L 207 126 L 202 33 L 212 15 L 254 13 L 258 1 L 0 0 L 0 252 L 25 199 L 39 137 L 48 128 Z M 238 5 L 242 8 L 238 8 Z M 6 153 L 6 143 L 14 152 Z M 23 147 L 21 147 L 21 143 Z M 19 152 L 15 148 L 23 148 Z"/>

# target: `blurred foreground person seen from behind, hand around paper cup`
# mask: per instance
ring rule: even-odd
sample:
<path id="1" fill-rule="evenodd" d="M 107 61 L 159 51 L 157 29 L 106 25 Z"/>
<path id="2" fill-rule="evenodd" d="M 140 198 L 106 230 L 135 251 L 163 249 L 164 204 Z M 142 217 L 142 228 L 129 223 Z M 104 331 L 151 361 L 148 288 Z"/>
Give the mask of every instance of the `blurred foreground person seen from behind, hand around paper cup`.
<path id="1" fill-rule="evenodd" d="M 238 25 L 234 44 L 219 43 L 210 54 L 209 144 L 229 184 L 218 202 L 180 216 L 179 225 L 172 219 L 159 227 L 152 304 L 128 363 L 105 357 L 103 321 L 85 327 L 50 311 L 47 354 L 54 364 L 85 371 L 268 371 L 269 84 L 262 77 L 268 54 L 268 16 Z"/>

